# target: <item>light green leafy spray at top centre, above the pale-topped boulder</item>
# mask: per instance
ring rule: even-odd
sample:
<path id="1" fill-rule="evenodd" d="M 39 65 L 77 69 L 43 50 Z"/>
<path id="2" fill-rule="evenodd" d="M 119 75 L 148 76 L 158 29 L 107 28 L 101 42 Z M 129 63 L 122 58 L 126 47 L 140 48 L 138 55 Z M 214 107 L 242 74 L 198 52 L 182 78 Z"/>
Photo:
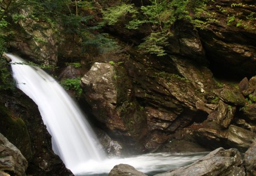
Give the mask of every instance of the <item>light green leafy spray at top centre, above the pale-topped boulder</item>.
<path id="1" fill-rule="evenodd" d="M 128 13 L 134 16 L 138 13 L 133 4 L 122 3 L 119 6 L 109 7 L 105 11 L 102 10 L 103 19 L 109 25 L 117 23 L 120 18 L 125 18 Z"/>

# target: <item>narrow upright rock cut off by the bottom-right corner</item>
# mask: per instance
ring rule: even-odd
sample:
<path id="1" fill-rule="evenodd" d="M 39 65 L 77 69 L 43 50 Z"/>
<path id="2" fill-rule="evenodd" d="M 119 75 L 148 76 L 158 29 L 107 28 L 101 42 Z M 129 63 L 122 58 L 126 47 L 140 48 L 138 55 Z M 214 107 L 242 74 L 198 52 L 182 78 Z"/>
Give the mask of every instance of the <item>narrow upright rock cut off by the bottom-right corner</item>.
<path id="1" fill-rule="evenodd" d="M 256 140 L 250 145 L 250 148 L 245 152 L 245 169 L 247 176 L 256 175 Z"/>

